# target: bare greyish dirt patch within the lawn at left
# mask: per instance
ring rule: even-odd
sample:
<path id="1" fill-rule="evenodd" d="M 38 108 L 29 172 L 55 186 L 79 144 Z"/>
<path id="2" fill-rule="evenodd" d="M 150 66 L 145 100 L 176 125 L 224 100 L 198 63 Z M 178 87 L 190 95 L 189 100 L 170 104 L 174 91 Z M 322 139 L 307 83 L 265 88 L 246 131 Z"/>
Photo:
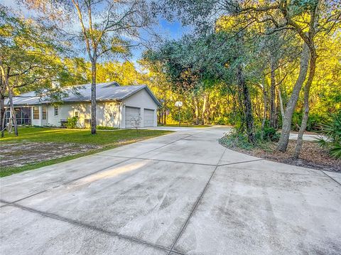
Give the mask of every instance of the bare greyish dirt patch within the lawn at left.
<path id="1" fill-rule="evenodd" d="M 76 143 L 6 143 L 0 144 L 0 167 L 25 166 L 50 159 L 72 156 L 101 146 Z"/>

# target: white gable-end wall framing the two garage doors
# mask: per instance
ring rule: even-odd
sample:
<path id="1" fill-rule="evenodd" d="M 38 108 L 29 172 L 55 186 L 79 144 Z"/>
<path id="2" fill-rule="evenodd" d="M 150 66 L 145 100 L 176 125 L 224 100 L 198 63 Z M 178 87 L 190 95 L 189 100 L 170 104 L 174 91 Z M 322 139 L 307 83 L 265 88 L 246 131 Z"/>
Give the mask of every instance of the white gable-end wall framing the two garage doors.
<path id="1" fill-rule="evenodd" d="M 125 107 L 137 107 L 140 108 L 140 116 L 141 116 L 141 123 L 140 127 L 144 127 L 144 109 L 153 109 L 154 110 L 154 124 L 153 126 L 157 126 L 157 117 L 156 112 L 158 109 L 158 105 L 156 102 L 151 98 L 151 96 L 146 92 L 146 89 L 141 89 L 139 92 L 131 95 L 123 100 L 123 104 L 121 105 L 121 128 L 124 129 L 125 126 Z"/>

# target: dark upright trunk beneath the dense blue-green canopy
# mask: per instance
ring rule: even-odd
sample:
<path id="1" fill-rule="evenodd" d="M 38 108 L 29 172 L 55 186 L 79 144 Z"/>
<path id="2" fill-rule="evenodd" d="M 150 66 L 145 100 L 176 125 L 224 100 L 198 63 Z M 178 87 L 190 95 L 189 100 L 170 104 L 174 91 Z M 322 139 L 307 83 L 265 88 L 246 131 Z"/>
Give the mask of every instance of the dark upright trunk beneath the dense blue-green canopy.
<path id="1" fill-rule="evenodd" d="M 244 73 L 242 70 L 242 65 L 237 67 L 237 80 L 239 86 L 242 88 L 243 93 L 243 103 L 244 103 L 244 119 L 247 127 L 247 139 L 250 143 L 254 143 L 254 116 L 252 115 L 251 98 L 249 94 L 249 89 L 245 82 Z"/>

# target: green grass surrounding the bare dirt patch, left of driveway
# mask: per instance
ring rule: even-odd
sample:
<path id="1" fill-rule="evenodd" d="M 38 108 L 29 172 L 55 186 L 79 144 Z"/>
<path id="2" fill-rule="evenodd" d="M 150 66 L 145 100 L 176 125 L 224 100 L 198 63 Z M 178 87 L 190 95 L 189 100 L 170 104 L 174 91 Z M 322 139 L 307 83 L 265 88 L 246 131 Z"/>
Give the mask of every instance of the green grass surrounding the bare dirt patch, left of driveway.
<path id="1" fill-rule="evenodd" d="M 134 129 L 121 129 L 114 131 L 97 130 L 96 135 L 90 134 L 88 129 L 52 129 L 52 128 L 36 128 L 36 127 L 20 127 L 18 136 L 5 133 L 5 137 L 0 139 L 1 144 L 16 143 L 16 142 L 53 142 L 53 143 L 77 143 L 90 144 L 101 146 L 101 148 L 91 149 L 84 153 L 78 153 L 72 156 L 55 158 L 48 161 L 31 163 L 25 166 L 6 166 L 0 168 L 0 177 L 20 173 L 25 170 L 33 170 L 42 166 L 50 166 L 54 163 L 68 161 L 73 158 L 87 156 L 92 153 L 105 151 L 110 148 L 115 148 L 128 143 L 134 143 L 144 139 L 161 136 L 171 133 L 171 131 L 163 130 L 139 130 L 139 133 Z"/>

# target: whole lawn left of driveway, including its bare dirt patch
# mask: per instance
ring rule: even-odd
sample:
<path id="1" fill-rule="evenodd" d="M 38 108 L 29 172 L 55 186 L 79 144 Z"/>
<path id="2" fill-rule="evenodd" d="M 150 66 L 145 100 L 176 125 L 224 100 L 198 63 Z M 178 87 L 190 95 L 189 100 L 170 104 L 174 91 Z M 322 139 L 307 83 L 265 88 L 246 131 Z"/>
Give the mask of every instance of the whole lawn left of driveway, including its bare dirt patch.
<path id="1" fill-rule="evenodd" d="M 4 166 L 1 162 L 0 177 L 49 166 L 168 133 L 171 131 L 141 129 L 137 133 L 135 129 L 119 129 L 97 130 L 97 134 L 93 136 L 88 129 L 19 127 L 17 137 L 5 133 L 5 137 L 0 139 L 1 161 L 6 161 L 6 154 L 14 158 L 13 163 L 9 166 Z M 28 150 L 21 150 L 26 147 Z M 64 148 L 65 153 L 63 153 Z M 42 153 L 45 156 L 40 156 Z M 46 153 L 50 153 L 50 155 Z M 59 155 L 56 156 L 58 153 Z M 30 159 L 30 154 L 33 159 Z M 16 164 L 16 156 L 21 160 L 24 157 L 27 159 L 24 158 L 24 163 Z M 39 158 L 39 160 L 34 158 Z M 44 159 L 42 160 L 42 158 Z"/>

